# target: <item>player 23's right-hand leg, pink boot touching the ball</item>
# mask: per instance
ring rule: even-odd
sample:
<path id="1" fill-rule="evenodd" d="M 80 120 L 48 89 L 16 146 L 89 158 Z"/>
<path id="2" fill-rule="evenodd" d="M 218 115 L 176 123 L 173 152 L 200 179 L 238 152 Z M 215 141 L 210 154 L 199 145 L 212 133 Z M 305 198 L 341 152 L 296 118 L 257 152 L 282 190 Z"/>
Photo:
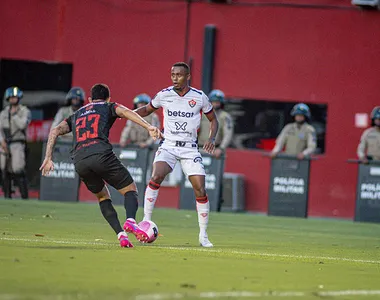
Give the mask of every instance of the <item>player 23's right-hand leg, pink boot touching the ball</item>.
<path id="1" fill-rule="evenodd" d="M 108 182 L 111 186 L 124 196 L 124 207 L 126 211 L 126 221 L 124 230 L 135 235 L 137 240 L 145 242 L 148 235 L 141 230 L 136 222 L 136 213 L 138 209 L 137 186 L 127 168 L 112 153 L 103 155 L 98 162 L 96 172 Z"/>

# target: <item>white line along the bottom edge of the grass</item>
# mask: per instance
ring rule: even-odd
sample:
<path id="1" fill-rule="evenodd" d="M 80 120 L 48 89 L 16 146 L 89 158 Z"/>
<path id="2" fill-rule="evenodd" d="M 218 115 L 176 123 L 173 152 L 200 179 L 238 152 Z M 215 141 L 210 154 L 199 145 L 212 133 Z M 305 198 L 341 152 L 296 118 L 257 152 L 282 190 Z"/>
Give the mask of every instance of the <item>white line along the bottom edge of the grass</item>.
<path id="1" fill-rule="evenodd" d="M 135 300 L 170 300 L 170 299 L 181 299 L 181 298 L 261 298 L 261 297 L 305 297 L 305 296 L 372 296 L 380 295 L 380 290 L 342 290 L 342 291 L 325 291 L 325 292 L 203 292 L 199 294 L 147 294 L 147 295 L 138 295 L 135 297 Z"/>

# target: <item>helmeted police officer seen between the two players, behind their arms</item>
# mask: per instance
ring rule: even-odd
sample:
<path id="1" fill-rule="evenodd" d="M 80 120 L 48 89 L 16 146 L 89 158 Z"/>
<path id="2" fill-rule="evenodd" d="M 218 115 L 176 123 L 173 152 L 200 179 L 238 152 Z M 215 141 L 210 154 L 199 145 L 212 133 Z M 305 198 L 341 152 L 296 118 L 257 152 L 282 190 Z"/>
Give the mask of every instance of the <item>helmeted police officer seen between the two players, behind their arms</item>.
<path id="1" fill-rule="evenodd" d="M 133 99 L 134 109 L 142 107 L 150 102 L 147 94 L 139 94 Z M 144 117 L 144 120 L 157 128 L 160 128 L 160 120 L 156 113 Z M 127 121 L 120 136 L 120 146 L 125 147 L 127 144 L 135 144 L 141 148 L 152 145 L 154 140 L 150 137 L 149 132 L 134 122 Z"/>

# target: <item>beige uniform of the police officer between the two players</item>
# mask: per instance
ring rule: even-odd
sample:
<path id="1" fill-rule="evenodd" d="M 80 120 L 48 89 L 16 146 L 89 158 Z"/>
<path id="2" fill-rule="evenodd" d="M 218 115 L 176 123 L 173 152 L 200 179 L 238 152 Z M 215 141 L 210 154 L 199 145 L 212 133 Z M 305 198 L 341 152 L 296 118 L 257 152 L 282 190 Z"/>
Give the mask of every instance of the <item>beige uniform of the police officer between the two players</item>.
<path id="1" fill-rule="evenodd" d="M 152 124 L 152 126 L 160 128 L 160 120 L 158 119 L 156 113 L 152 113 L 144 117 L 144 120 Z M 149 146 L 153 144 L 154 140 L 145 128 L 128 120 L 121 133 L 120 144 L 127 142 L 130 142 L 132 144 L 145 143 Z"/>

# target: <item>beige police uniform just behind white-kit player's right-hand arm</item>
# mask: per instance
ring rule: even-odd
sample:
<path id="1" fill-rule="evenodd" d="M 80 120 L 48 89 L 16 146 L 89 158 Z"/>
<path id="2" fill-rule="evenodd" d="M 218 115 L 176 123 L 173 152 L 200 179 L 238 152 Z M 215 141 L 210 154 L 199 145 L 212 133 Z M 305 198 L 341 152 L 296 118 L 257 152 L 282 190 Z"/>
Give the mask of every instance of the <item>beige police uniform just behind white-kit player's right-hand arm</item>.
<path id="1" fill-rule="evenodd" d="M 222 109 L 216 110 L 215 114 L 219 122 L 218 133 L 215 137 L 215 147 L 225 150 L 231 144 L 234 133 L 232 117 L 228 112 Z M 208 141 L 209 135 L 210 121 L 205 115 L 203 115 L 198 135 L 198 143 L 200 146 L 203 146 Z"/>

